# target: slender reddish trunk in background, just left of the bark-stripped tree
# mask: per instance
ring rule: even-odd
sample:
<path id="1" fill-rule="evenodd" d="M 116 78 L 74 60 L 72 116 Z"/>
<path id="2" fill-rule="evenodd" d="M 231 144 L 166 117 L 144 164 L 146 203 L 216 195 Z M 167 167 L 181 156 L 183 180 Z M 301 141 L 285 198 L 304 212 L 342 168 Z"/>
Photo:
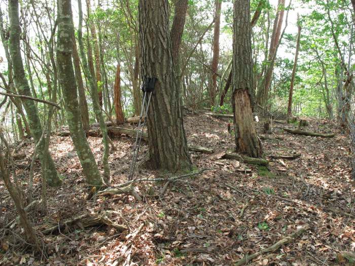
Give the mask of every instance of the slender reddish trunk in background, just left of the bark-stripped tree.
<path id="1" fill-rule="evenodd" d="M 215 28 L 213 37 L 213 56 L 211 62 L 211 83 L 209 85 L 209 98 L 212 106 L 215 105 L 217 93 L 217 71 L 220 59 L 220 27 L 221 27 L 222 0 L 215 0 Z"/>

